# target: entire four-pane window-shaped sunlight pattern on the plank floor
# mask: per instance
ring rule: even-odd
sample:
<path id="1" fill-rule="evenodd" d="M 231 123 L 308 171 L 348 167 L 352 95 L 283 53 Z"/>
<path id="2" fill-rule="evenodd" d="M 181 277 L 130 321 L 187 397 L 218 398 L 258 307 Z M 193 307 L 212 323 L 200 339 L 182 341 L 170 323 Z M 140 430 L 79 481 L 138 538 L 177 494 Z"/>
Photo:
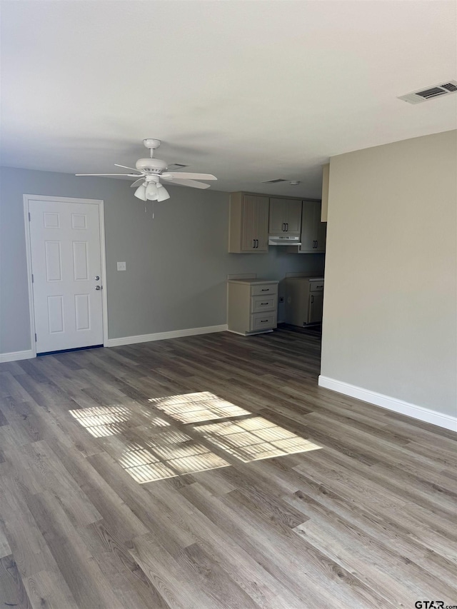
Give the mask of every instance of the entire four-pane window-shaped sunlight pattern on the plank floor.
<path id="1" fill-rule="evenodd" d="M 140 484 L 231 465 L 209 446 L 243 463 L 321 448 L 208 391 L 151 398 L 136 408 L 147 425 L 135 425 L 135 408 L 124 405 L 69 413 Z"/>

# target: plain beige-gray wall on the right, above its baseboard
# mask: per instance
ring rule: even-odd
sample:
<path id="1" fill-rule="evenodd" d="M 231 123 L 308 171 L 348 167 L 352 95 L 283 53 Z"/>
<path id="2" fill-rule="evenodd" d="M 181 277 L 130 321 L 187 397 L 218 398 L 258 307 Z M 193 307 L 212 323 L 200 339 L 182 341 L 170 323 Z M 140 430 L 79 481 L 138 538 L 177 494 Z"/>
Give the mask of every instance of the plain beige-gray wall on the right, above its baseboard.
<path id="1" fill-rule="evenodd" d="M 456 131 L 331 158 L 321 374 L 456 415 Z"/>

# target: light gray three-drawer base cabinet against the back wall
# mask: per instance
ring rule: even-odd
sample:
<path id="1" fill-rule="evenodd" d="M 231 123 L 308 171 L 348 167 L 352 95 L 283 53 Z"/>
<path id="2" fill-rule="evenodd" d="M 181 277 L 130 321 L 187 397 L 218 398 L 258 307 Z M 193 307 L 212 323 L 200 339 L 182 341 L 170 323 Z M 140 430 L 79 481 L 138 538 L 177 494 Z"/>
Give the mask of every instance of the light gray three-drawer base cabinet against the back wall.
<path id="1" fill-rule="evenodd" d="M 227 282 L 229 332 L 249 336 L 271 332 L 278 320 L 278 281 L 230 279 Z"/>

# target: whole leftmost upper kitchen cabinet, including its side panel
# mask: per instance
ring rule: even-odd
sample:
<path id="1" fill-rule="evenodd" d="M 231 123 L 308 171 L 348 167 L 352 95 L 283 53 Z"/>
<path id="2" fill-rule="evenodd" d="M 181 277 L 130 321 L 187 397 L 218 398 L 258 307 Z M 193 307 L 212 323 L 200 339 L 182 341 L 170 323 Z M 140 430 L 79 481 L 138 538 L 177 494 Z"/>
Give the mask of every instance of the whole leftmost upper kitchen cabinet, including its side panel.
<path id="1" fill-rule="evenodd" d="M 229 252 L 268 252 L 268 197 L 231 193 Z"/>

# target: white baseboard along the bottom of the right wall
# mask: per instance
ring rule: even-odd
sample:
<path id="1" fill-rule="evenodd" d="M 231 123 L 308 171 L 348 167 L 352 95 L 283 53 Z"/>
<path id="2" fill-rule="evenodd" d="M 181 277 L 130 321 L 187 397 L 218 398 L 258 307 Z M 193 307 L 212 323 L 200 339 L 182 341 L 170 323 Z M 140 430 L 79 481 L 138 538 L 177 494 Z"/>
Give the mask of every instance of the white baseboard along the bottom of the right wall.
<path id="1" fill-rule="evenodd" d="M 388 411 L 400 413 L 411 418 L 417 418 L 419 421 L 425 421 L 426 423 L 432 423 L 438 427 L 450 429 L 451 431 L 457 431 L 457 417 L 431 411 L 423 406 L 416 406 L 409 402 L 403 402 L 403 400 L 397 400 L 389 396 L 384 396 L 383 393 L 376 393 L 376 391 L 370 391 L 369 389 L 363 389 L 350 383 L 343 383 L 343 381 L 336 381 L 334 378 L 328 378 L 328 376 L 319 376 L 318 385 L 343 393 L 345 396 L 351 396 L 351 398 L 357 398 L 363 402 L 374 404 L 375 406 L 381 406 L 386 408 Z"/>

